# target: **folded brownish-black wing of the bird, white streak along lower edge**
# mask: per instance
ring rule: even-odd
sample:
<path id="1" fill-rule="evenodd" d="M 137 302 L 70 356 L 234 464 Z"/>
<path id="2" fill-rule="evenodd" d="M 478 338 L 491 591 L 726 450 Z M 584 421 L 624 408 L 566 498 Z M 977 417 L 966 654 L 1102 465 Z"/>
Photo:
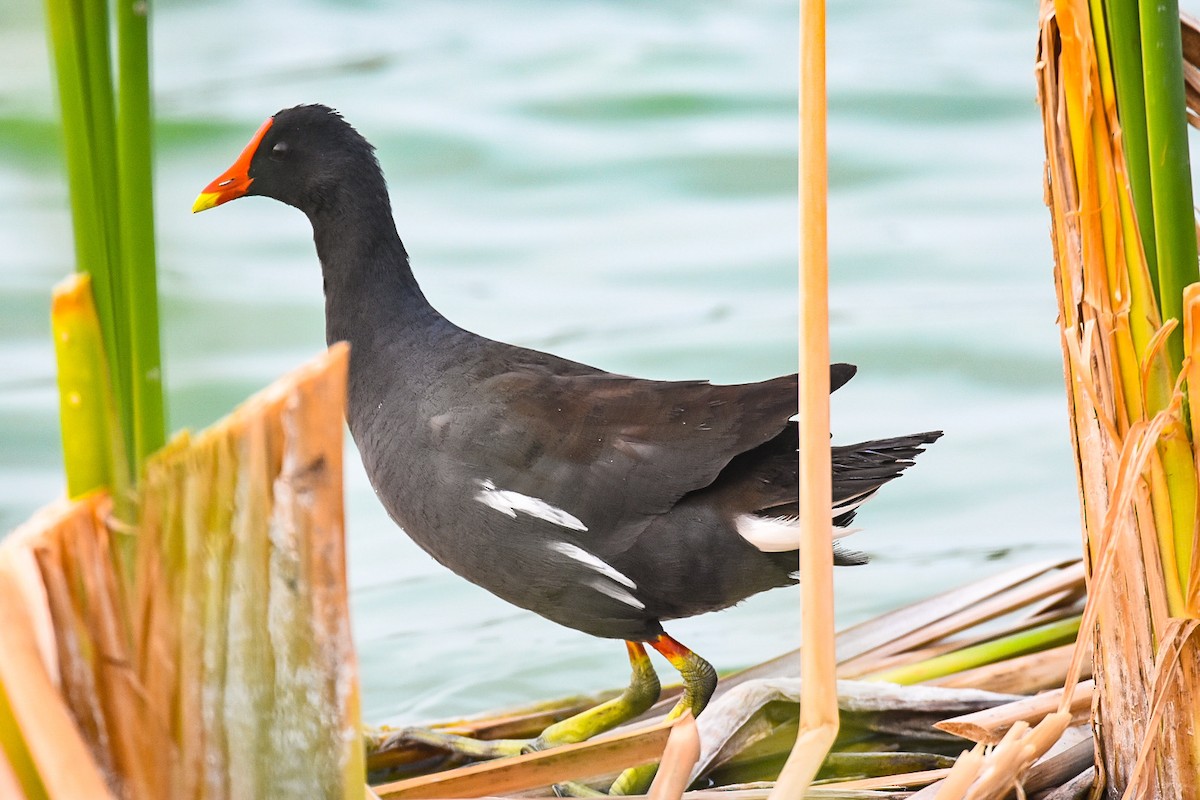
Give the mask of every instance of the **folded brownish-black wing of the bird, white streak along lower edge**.
<path id="1" fill-rule="evenodd" d="M 834 365 L 830 384 L 852 374 Z M 481 489 L 503 493 L 491 499 L 512 513 L 522 504 L 542 518 L 562 511 L 566 527 L 607 533 L 640 528 L 710 485 L 787 428 L 797 399 L 796 375 L 721 386 L 530 367 L 479 389 L 488 413 L 451 439 Z"/>

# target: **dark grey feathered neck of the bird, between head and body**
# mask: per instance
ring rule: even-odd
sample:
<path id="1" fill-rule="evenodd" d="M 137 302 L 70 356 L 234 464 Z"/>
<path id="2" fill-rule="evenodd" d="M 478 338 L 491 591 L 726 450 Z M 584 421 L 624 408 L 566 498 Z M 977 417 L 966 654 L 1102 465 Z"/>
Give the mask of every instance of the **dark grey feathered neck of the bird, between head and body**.
<path id="1" fill-rule="evenodd" d="M 307 212 L 324 279 L 325 338 L 360 351 L 445 323 L 413 277 L 386 188 L 362 188 Z"/>

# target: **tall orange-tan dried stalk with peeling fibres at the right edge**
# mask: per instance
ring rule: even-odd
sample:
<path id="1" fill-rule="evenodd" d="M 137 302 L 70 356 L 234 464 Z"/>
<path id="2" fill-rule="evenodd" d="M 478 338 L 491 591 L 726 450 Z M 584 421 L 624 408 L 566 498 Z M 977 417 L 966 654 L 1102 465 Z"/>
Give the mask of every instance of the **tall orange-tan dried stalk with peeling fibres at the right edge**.
<path id="1" fill-rule="evenodd" d="M 1198 429 L 1193 398 L 1200 395 L 1198 318 L 1189 306 L 1196 287 L 1181 290 L 1177 279 L 1189 273 L 1195 279 L 1195 257 L 1194 251 L 1183 259 L 1164 254 L 1159 223 L 1182 218 L 1192 247 L 1194 231 L 1190 212 L 1168 212 L 1157 191 L 1152 215 L 1134 212 L 1117 116 L 1122 109 L 1108 61 L 1108 40 L 1128 34 L 1118 30 L 1128 19 L 1116 13 L 1105 23 L 1098 4 L 1090 7 L 1086 0 L 1044 0 L 1042 10 L 1038 89 L 1046 201 L 1090 569 L 1082 630 L 1094 644 L 1096 711 L 1110 796 L 1136 787 L 1196 798 L 1200 788 L 1190 776 L 1200 769 L 1200 753 L 1182 732 L 1196 723 L 1192 698 L 1200 691 L 1200 648 L 1190 636 L 1168 638 L 1180 630 L 1178 618 L 1200 610 L 1193 595 L 1196 468 L 1189 435 L 1189 428 Z M 1141 25 L 1145 37 L 1145 18 Z M 1171 26 L 1177 34 L 1174 17 Z M 1116 49 L 1118 67 L 1128 74 L 1136 48 Z M 1162 89 L 1151 83 L 1175 88 L 1175 82 L 1182 88 L 1178 70 L 1156 74 L 1145 82 L 1145 94 L 1148 98 Z M 1134 102 L 1148 104 L 1129 85 L 1121 94 L 1123 110 Z M 1174 113 L 1181 114 L 1177 94 Z M 1169 281 L 1156 282 L 1147 267 L 1141 233 L 1150 241 L 1151 231 L 1139 230 L 1139 218 L 1154 219 L 1157 269 L 1159 275 L 1175 270 Z M 1174 319 L 1164 324 L 1164 317 Z M 1076 654 L 1076 667 L 1082 656 L 1082 650 Z"/>

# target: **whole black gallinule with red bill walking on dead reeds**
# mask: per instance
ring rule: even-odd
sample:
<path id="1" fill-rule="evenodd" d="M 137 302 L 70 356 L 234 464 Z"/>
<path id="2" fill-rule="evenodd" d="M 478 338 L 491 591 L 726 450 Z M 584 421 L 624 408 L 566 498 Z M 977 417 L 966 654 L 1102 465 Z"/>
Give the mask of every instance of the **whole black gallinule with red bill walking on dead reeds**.
<path id="1" fill-rule="evenodd" d="M 266 120 L 193 211 L 253 194 L 312 223 L 326 339 L 350 343 L 350 432 L 391 517 L 504 600 L 626 642 L 626 692 L 534 746 L 578 741 L 648 708 L 659 682 L 643 643 L 683 675 L 677 710 L 698 714 L 716 674 L 661 622 L 796 583 L 796 375 L 640 380 L 458 327 L 413 277 L 374 149 L 324 106 Z M 833 365 L 830 387 L 853 374 Z M 833 447 L 834 524 L 845 529 L 940 435 Z M 865 559 L 838 548 L 835 561 Z"/>

